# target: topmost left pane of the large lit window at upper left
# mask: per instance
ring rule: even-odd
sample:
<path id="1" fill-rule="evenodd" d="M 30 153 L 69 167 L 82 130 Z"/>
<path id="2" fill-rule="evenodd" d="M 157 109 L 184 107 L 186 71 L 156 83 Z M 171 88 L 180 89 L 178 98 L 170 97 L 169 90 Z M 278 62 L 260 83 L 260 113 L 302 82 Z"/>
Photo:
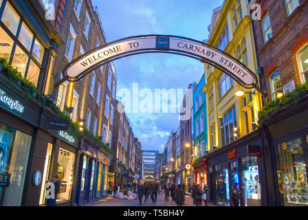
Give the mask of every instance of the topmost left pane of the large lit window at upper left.
<path id="1" fill-rule="evenodd" d="M 3 17 L 1 19 L 1 21 L 3 21 L 3 23 L 6 25 L 6 27 L 8 27 L 8 29 L 10 29 L 10 31 L 14 35 L 16 35 L 16 33 L 17 33 L 19 20 L 20 20 L 20 17 L 17 14 L 17 12 L 15 12 L 15 10 L 12 8 L 10 3 L 7 3 L 5 5 L 5 9 L 4 9 Z"/>

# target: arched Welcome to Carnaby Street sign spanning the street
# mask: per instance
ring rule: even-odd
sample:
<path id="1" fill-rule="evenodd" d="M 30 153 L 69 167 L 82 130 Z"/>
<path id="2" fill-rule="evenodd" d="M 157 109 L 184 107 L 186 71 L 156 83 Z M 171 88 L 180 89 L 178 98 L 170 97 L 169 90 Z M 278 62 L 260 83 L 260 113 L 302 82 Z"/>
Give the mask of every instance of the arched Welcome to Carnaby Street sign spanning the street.
<path id="1" fill-rule="evenodd" d="M 229 54 L 194 39 L 154 34 L 131 36 L 96 47 L 69 63 L 63 69 L 63 79 L 57 85 L 65 80 L 78 81 L 94 69 L 120 58 L 145 53 L 179 54 L 195 58 L 220 69 L 246 89 L 260 91 L 254 72 Z"/>

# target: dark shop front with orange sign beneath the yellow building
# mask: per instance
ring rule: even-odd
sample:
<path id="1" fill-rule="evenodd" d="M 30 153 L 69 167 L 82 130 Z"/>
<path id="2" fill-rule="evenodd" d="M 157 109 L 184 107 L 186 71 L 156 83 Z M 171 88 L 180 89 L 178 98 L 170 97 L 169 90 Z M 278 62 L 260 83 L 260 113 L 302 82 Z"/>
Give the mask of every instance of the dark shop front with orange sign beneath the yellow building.
<path id="1" fill-rule="evenodd" d="M 261 206 L 267 198 L 259 131 L 206 156 L 211 201 L 233 206 L 232 188 L 239 184 L 241 206 Z M 263 188 L 263 190 L 261 190 Z M 263 199 L 263 201 L 262 201 Z"/>

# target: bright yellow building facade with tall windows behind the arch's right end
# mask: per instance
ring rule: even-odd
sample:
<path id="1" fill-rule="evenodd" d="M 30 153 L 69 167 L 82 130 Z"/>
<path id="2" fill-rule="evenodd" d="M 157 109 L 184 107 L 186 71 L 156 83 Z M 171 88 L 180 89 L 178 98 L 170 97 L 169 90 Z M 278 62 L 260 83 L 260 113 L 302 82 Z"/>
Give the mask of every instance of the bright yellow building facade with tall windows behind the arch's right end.
<path id="1" fill-rule="evenodd" d="M 247 0 L 225 1 L 214 10 L 209 32 L 208 45 L 237 58 L 256 73 L 254 35 Z M 262 104 L 261 94 L 256 89 L 241 87 L 230 76 L 206 63 L 204 69 L 206 86 L 203 91 L 206 91 L 208 102 L 208 146 L 209 152 L 212 152 L 254 131 Z M 247 93 L 238 97 L 235 95 L 238 89 Z"/>

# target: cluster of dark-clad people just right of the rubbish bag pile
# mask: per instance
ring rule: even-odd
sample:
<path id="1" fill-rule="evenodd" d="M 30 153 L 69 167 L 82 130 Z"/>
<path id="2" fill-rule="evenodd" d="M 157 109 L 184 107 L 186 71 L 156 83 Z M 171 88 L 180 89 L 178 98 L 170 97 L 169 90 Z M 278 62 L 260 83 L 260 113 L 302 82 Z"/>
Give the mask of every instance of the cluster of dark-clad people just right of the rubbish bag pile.
<path id="1" fill-rule="evenodd" d="M 149 195 L 151 195 L 152 203 L 156 203 L 157 192 L 160 192 L 159 184 L 157 184 L 157 182 L 151 181 L 151 182 L 145 182 L 144 184 L 140 182 L 139 186 L 137 187 L 139 205 L 141 205 L 143 197 L 144 197 L 144 203 L 146 203 L 146 200 L 148 199 Z"/>

